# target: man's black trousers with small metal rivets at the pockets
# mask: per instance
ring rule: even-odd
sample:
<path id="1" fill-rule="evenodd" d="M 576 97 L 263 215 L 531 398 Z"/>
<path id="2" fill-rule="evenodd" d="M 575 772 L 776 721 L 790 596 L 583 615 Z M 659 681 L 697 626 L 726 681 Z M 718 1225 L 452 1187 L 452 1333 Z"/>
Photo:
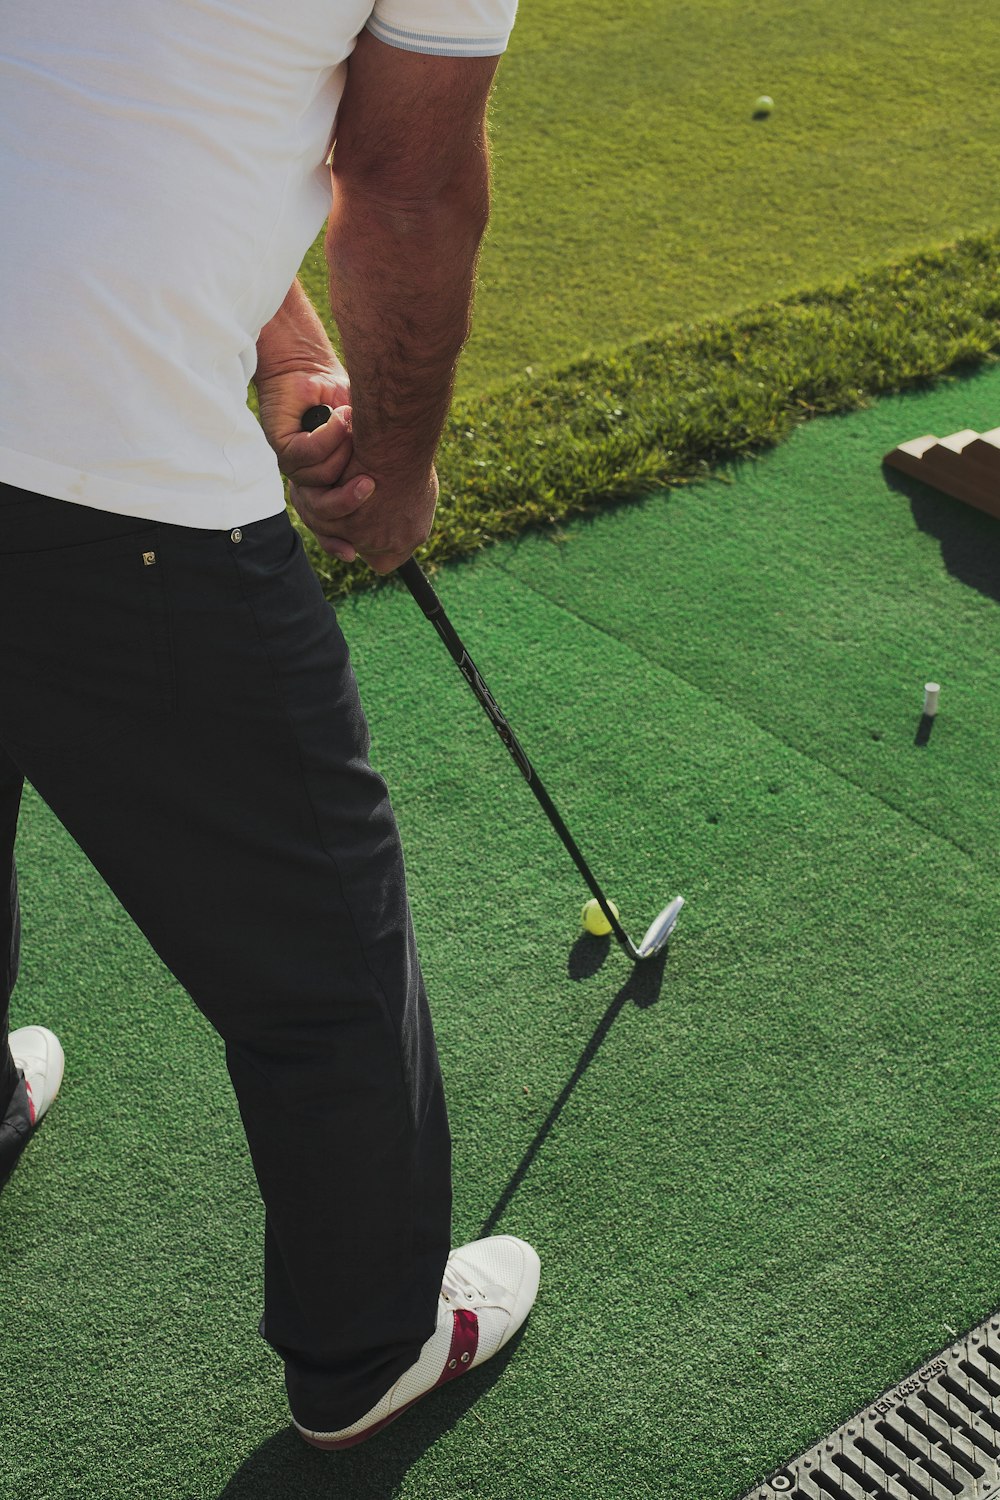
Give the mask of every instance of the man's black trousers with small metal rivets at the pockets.
<path id="1" fill-rule="evenodd" d="M 286 513 L 202 531 L 0 486 L 0 1179 L 27 1126 L 6 1046 L 27 777 L 225 1041 L 265 1206 L 261 1334 L 324 1431 L 417 1359 L 450 1248 L 441 1072 L 367 750 Z"/>

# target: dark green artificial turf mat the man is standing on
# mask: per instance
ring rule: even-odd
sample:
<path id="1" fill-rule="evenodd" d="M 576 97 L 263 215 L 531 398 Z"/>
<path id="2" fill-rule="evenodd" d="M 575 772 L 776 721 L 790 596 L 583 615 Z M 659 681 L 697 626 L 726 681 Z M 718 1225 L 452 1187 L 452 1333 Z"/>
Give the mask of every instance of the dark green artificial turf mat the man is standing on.
<path id="1" fill-rule="evenodd" d="M 0 1198 L 0 1494 L 729 1500 L 1000 1304 L 1000 524 L 880 466 L 997 411 L 996 369 L 885 398 L 438 576 L 627 926 L 688 898 L 664 964 L 579 936 L 586 891 L 405 592 L 342 603 L 456 1240 L 543 1262 L 510 1359 L 348 1454 L 288 1430 L 256 1336 L 222 1046 L 25 788 L 12 1023 L 67 1072 Z"/>

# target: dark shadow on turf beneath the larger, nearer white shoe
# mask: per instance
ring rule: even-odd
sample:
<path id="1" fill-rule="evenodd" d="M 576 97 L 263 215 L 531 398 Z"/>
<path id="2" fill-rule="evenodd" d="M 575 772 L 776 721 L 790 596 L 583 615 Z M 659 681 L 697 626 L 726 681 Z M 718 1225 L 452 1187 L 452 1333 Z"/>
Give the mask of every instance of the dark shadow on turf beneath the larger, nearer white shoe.
<path id="1" fill-rule="evenodd" d="M 478 1370 L 429 1392 L 357 1448 L 324 1454 L 283 1428 L 250 1454 L 217 1500 L 393 1500 L 417 1460 L 501 1378 L 528 1323 Z"/>

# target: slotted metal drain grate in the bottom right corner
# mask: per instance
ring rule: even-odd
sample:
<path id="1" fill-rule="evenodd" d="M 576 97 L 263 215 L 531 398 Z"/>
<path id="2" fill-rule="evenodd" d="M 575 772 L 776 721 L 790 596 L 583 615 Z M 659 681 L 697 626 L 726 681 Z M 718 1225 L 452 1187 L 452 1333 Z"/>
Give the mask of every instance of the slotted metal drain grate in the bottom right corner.
<path id="1" fill-rule="evenodd" d="M 1000 1314 L 744 1500 L 1000 1500 Z"/>

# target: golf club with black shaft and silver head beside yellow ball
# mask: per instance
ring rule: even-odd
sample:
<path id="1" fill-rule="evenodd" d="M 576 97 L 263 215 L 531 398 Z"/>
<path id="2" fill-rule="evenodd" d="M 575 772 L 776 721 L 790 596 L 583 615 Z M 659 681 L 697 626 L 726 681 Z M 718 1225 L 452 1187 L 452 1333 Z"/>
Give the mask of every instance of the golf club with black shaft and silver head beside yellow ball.
<path id="1" fill-rule="evenodd" d="M 310 406 L 306 412 L 303 412 L 301 418 L 303 430 L 313 432 L 316 428 L 321 428 L 324 422 L 328 422 L 331 416 L 333 416 L 331 406 Z M 664 906 L 664 909 L 660 912 L 660 915 L 655 918 L 655 921 L 646 932 L 639 946 L 636 946 L 636 944 L 631 940 L 631 938 L 628 936 L 619 920 L 615 916 L 615 912 L 612 910 L 607 897 L 604 896 L 603 890 L 600 888 L 600 885 L 597 884 L 597 880 L 591 873 L 591 867 L 588 866 L 586 860 L 577 849 L 573 834 L 562 822 L 562 818 L 559 816 L 555 802 L 544 789 L 538 777 L 538 772 L 534 770 L 531 760 L 525 754 L 520 742 L 517 741 L 517 736 L 514 735 L 514 730 L 507 723 L 507 718 L 501 712 L 496 699 L 490 693 L 489 687 L 486 686 L 480 672 L 477 670 L 472 657 L 469 656 L 462 640 L 459 639 L 459 633 L 456 632 L 454 626 L 445 615 L 444 606 L 438 598 L 438 596 L 435 594 L 430 584 L 427 582 L 420 564 L 417 562 L 415 558 L 409 558 L 409 561 L 403 562 L 402 567 L 396 568 L 396 572 L 402 578 L 403 584 L 414 596 L 417 603 L 420 604 L 421 610 L 424 612 L 430 624 L 435 627 L 435 630 L 444 640 L 453 662 L 456 663 L 456 666 L 462 672 L 462 676 L 466 680 L 466 682 L 475 693 L 483 711 L 493 724 L 493 729 L 507 746 L 511 759 L 514 760 L 514 765 L 517 766 L 523 778 L 528 782 L 528 786 L 535 794 L 535 798 L 538 800 L 543 812 L 546 813 L 546 818 L 549 819 L 555 831 L 559 834 L 559 838 L 562 840 L 570 858 L 573 860 L 577 870 L 586 880 L 591 892 L 597 898 L 597 903 L 604 912 L 607 921 L 610 922 L 612 932 L 615 933 L 615 938 L 618 939 L 621 946 L 625 950 L 625 952 L 633 962 L 639 962 L 640 958 L 655 957 L 655 954 L 661 952 L 661 950 L 667 942 L 667 938 L 673 932 L 676 920 L 681 915 L 681 908 L 684 906 L 684 897 L 676 896 L 669 906 Z"/>

